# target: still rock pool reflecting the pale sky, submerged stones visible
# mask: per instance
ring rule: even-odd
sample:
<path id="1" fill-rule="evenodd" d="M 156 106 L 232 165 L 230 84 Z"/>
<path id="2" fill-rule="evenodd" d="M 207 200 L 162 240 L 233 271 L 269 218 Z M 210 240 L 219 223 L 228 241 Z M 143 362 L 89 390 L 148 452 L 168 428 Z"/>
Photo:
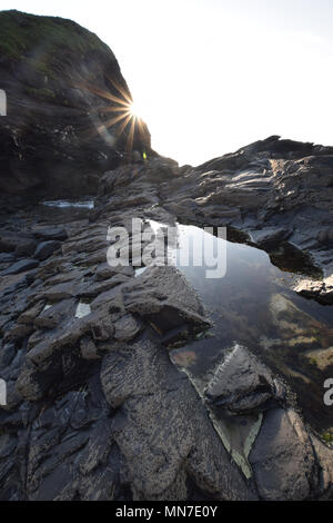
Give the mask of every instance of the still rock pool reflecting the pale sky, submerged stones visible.
<path id="1" fill-rule="evenodd" d="M 153 229 L 157 224 L 151 223 Z M 216 251 L 226 253 L 221 278 L 206 278 L 205 264 L 193 266 L 202 248 L 202 229 L 178 225 L 175 264 L 186 276 L 213 322 L 205 336 L 171 351 L 174 363 L 185 367 L 199 389 L 235 343 L 246 346 L 280 374 L 297 395 L 305 420 L 319 432 L 333 427 L 332 407 L 325 406 L 324 382 L 333 377 L 333 309 L 307 300 L 293 290 L 300 275 L 274 266 L 254 247 L 210 236 Z M 190 264 L 181 264 L 188 250 Z M 301 272 L 302 267 L 300 267 Z"/>

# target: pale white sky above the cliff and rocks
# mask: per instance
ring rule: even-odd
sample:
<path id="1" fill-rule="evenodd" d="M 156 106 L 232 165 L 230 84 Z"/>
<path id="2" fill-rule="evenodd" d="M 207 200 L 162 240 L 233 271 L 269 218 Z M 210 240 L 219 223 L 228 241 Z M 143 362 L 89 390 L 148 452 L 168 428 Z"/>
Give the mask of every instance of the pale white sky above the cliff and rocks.
<path id="1" fill-rule="evenodd" d="M 333 0 L 0 0 L 110 46 L 152 147 L 198 165 L 270 135 L 333 145 Z"/>

